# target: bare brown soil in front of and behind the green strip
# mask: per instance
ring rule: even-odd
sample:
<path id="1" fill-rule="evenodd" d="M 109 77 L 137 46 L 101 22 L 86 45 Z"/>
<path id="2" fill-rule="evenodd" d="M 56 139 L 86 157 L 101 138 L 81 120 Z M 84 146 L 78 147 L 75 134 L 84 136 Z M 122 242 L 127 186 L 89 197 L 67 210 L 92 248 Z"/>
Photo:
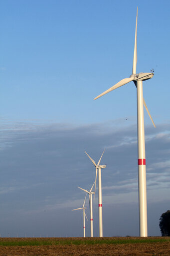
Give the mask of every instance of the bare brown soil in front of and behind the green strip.
<path id="1" fill-rule="evenodd" d="M 137 239 L 137 237 L 134 237 Z M 156 238 L 148 237 L 146 239 Z M 161 237 L 159 237 L 160 239 Z M 132 239 L 132 237 L 104 238 L 0 238 L 9 240 L 75 240 L 75 239 Z M 139 238 L 140 239 L 140 238 Z M 170 240 L 155 243 L 96 244 L 96 245 L 40 245 L 40 246 L 0 246 L 0 256 L 60 256 L 60 255 L 107 255 L 107 256 L 170 256 Z"/>

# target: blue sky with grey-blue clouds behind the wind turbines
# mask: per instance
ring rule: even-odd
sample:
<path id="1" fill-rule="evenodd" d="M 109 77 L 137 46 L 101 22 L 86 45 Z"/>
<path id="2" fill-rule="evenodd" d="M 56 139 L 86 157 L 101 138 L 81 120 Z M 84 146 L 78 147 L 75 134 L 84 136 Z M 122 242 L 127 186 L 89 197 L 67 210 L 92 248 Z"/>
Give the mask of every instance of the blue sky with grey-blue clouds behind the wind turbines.
<path id="1" fill-rule="evenodd" d="M 170 199 L 169 1 L 0 2 L 0 234 L 82 236 L 83 204 L 102 151 L 103 233 L 138 235 L 137 108 L 132 73 L 150 72 L 146 111 L 148 233 Z M 94 234 L 98 235 L 97 197 Z M 87 202 L 88 207 L 88 202 Z M 87 209 L 89 213 L 89 209 Z M 88 214 L 89 215 L 89 214 Z M 87 235 L 90 235 L 87 223 Z"/>

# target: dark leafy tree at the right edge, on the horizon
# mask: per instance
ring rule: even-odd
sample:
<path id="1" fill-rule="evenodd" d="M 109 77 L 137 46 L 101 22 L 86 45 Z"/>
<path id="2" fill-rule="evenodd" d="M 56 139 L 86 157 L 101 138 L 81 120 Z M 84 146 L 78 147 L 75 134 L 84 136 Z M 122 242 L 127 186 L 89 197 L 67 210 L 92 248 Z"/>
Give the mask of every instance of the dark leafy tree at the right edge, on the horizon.
<path id="1" fill-rule="evenodd" d="M 170 236 L 170 210 L 161 215 L 160 229 L 162 236 Z"/>

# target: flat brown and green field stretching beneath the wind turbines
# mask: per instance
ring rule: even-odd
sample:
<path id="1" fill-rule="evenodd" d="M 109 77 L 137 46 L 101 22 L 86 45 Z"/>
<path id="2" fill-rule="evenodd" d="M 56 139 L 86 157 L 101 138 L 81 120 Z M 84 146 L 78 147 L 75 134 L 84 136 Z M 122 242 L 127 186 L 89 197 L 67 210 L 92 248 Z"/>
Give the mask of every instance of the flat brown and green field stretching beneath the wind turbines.
<path id="1" fill-rule="evenodd" d="M 0 238 L 0 256 L 170 256 L 170 237 Z"/>

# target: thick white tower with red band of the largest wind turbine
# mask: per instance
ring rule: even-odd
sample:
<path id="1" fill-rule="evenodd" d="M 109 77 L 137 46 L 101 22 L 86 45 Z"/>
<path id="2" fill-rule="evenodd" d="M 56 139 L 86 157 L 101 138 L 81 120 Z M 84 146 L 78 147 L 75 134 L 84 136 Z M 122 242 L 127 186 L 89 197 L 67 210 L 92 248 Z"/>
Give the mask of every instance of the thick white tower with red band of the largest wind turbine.
<path id="1" fill-rule="evenodd" d="M 140 236 L 148 236 L 145 130 L 144 130 L 144 107 L 143 106 L 144 106 L 143 105 L 143 82 L 137 81 L 138 185 L 139 185 Z"/>

